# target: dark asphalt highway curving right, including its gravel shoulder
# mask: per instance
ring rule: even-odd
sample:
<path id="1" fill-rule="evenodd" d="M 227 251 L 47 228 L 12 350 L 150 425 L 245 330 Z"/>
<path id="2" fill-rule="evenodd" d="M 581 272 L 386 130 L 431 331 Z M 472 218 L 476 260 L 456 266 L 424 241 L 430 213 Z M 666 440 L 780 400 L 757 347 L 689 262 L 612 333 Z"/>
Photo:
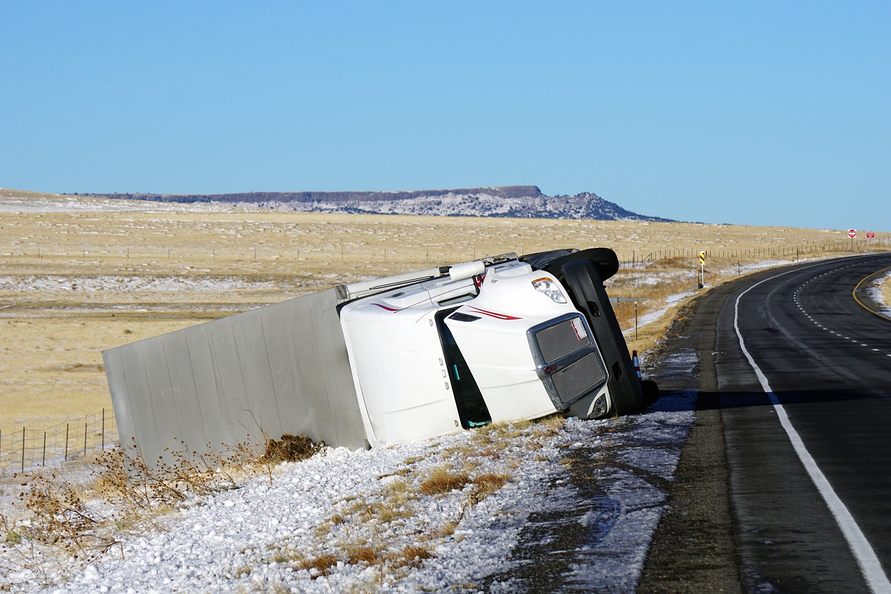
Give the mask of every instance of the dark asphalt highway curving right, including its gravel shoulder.
<path id="1" fill-rule="evenodd" d="M 888 267 L 773 269 L 687 312 L 697 422 L 639 591 L 891 591 L 891 320 L 854 295 Z"/>

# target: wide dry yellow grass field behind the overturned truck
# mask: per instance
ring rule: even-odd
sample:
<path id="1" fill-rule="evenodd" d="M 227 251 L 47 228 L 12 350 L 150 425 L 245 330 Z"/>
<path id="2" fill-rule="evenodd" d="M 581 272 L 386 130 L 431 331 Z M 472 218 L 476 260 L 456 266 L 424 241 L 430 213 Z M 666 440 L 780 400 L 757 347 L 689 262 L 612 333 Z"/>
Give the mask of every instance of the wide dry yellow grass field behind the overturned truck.
<path id="1" fill-rule="evenodd" d="M 284 213 L 0 189 L 0 431 L 102 408 L 101 351 L 360 279 L 503 252 L 609 247 L 638 317 L 764 262 L 850 253 L 839 230 L 694 223 Z M 874 247 L 878 247 L 878 244 Z M 887 249 L 887 245 L 881 246 Z M 617 304 L 634 328 L 634 303 Z M 671 318 L 643 326 L 645 351 Z M 632 333 L 634 338 L 634 333 Z"/>

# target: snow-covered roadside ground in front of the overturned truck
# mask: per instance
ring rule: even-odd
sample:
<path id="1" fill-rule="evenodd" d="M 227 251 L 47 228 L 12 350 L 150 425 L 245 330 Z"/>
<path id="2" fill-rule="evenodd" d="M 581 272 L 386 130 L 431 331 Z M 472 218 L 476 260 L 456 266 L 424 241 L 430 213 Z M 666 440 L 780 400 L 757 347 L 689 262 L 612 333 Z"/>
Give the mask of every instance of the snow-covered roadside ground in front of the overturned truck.
<path id="1" fill-rule="evenodd" d="M 556 429 L 518 425 L 519 435 L 503 440 L 486 429 L 378 450 L 327 449 L 277 466 L 271 482 L 258 475 L 193 497 L 149 532 L 119 532 L 121 549 L 88 565 L 6 542 L 0 590 L 529 591 L 544 572 L 547 591 L 634 591 L 666 505 L 660 485 L 671 480 L 692 423 L 691 398 L 669 393 L 641 415 L 569 419 Z M 473 483 L 421 494 L 444 467 L 467 467 L 471 480 L 508 478 L 488 497 Z M 412 546 L 432 555 L 405 560 Z M 363 547 L 387 560 L 350 562 Z M 301 565 L 313 558 L 333 565 Z"/>

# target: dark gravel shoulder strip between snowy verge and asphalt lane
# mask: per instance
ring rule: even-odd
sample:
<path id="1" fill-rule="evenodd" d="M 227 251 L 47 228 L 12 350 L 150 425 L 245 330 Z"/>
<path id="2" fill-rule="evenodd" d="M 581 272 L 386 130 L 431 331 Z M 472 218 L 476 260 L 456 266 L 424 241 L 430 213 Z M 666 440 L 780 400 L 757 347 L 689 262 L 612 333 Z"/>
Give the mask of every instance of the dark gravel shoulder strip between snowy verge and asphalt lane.
<path id="1" fill-rule="evenodd" d="M 699 362 L 688 377 L 659 378 L 665 390 L 697 391 L 697 412 L 668 486 L 668 506 L 653 535 L 639 592 L 743 591 L 714 367 L 715 320 L 731 293 L 726 285 L 716 287 L 685 307 L 660 349 L 697 352 Z M 654 367 L 658 373 L 658 363 Z"/>

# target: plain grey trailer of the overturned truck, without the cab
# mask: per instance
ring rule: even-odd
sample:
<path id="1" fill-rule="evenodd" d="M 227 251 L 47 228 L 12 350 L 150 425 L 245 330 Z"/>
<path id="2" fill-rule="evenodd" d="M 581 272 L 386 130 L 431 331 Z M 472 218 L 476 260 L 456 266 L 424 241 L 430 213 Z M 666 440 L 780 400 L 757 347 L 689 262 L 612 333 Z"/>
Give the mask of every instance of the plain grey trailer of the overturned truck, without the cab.
<path id="1" fill-rule="evenodd" d="M 262 432 L 366 446 L 329 289 L 103 351 L 119 435 L 151 463 Z M 182 443 L 184 441 L 184 443 Z"/>

